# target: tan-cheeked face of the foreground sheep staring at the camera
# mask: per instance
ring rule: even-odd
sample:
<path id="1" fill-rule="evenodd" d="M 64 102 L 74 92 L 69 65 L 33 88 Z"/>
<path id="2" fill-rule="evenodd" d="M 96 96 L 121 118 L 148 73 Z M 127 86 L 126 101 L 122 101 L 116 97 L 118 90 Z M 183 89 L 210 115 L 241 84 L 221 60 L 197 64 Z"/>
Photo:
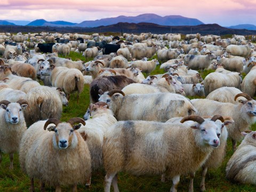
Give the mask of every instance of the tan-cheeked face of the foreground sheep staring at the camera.
<path id="1" fill-rule="evenodd" d="M 81 125 L 77 125 L 79 129 Z M 67 149 L 75 147 L 78 143 L 73 127 L 68 123 L 59 123 L 57 126 L 51 126 L 49 131 L 54 131 L 53 146 L 55 149 Z"/>

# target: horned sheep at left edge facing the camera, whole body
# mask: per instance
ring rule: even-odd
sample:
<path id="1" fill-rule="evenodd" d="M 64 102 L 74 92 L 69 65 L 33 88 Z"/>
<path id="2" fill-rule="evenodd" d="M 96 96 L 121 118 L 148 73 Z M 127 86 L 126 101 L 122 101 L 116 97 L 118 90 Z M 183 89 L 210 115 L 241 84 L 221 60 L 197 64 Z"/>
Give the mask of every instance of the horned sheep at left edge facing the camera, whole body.
<path id="1" fill-rule="evenodd" d="M 9 154 L 9 169 L 13 170 L 13 154 L 18 151 L 22 135 L 27 130 L 23 111 L 28 107 L 28 102 L 22 99 L 17 102 L 2 100 L 0 106 L 0 163 L 2 152 Z"/>

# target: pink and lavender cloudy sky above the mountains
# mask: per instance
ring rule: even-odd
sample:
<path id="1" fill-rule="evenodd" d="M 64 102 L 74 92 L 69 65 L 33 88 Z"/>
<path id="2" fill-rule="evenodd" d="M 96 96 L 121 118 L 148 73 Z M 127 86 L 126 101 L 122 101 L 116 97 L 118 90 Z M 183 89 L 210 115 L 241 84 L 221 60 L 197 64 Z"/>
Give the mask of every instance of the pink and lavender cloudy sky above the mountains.
<path id="1" fill-rule="evenodd" d="M 80 23 L 119 15 L 181 15 L 205 24 L 256 25 L 256 0 L 0 0 L 0 20 L 45 19 Z"/>

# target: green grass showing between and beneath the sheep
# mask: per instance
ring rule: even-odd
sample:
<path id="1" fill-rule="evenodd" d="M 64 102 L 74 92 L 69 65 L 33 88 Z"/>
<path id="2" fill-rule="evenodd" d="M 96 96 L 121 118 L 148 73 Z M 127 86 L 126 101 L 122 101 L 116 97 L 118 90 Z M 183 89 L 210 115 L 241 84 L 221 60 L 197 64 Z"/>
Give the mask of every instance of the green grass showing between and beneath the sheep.
<path id="1" fill-rule="evenodd" d="M 71 53 L 69 57 L 73 60 L 75 58 L 79 58 L 84 60 L 80 54 Z M 201 75 L 203 78 L 212 72 L 209 71 L 201 71 Z M 162 69 L 159 69 L 159 66 L 153 71 L 151 75 L 164 73 Z M 76 94 L 72 94 L 69 106 L 63 108 L 62 121 L 67 121 L 67 119 L 71 117 L 83 117 L 87 107 L 89 106 L 89 86 L 84 87 L 84 91 L 82 92 L 78 105 L 76 104 Z M 252 126 L 253 130 L 256 130 L 256 125 Z M 225 178 L 225 167 L 228 162 L 228 159 L 233 154 L 231 150 L 231 142 L 228 140 L 227 146 L 227 156 L 223 161 L 222 165 L 217 170 L 210 170 L 206 175 L 206 191 L 256 191 L 256 187 L 253 185 L 244 185 L 239 183 L 232 183 Z M 79 159 L 78 161 L 83 161 L 83 159 Z M 23 173 L 19 166 L 18 154 L 14 155 L 14 170 L 9 170 L 9 156 L 3 155 L 3 162 L 0 166 L 0 192 L 2 191 L 28 191 L 30 186 L 29 178 L 25 173 Z M 91 191 L 98 192 L 103 191 L 103 180 L 105 177 L 105 172 L 103 170 L 94 172 L 92 176 L 92 187 L 86 188 L 83 185 L 78 186 L 78 191 Z M 194 190 L 199 191 L 199 185 L 201 182 L 201 170 L 196 173 L 196 178 L 194 180 Z M 171 181 L 166 181 L 165 183 L 161 182 L 161 177 L 136 177 L 127 173 L 120 173 L 118 175 L 118 187 L 120 191 L 124 192 L 135 192 L 135 191 L 154 191 L 154 192 L 162 192 L 162 191 L 170 191 Z M 180 180 L 180 184 L 178 187 L 179 191 L 187 191 L 189 185 L 189 178 L 186 176 L 182 176 Z M 36 191 L 39 191 L 39 182 L 35 181 Z M 70 191 L 70 188 L 63 187 L 63 191 Z M 46 191 L 54 191 L 54 188 L 46 188 Z"/>

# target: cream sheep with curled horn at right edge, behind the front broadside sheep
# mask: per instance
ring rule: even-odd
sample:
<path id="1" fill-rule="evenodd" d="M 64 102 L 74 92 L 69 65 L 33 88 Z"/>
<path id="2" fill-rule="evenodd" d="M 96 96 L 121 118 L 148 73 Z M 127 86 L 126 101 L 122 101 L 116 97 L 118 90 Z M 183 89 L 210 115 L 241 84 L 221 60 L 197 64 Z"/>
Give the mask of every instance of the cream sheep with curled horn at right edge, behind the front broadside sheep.
<path id="1" fill-rule="evenodd" d="M 198 110 L 197 115 L 215 115 L 220 114 L 234 119 L 235 123 L 228 126 L 228 135 L 231 138 L 233 150 L 236 150 L 236 142 L 241 140 L 241 132 L 248 129 L 248 126 L 255 123 L 256 101 L 246 93 L 239 93 L 238 97 L 244 97 L 246 100 L 239 100 L 239 103 L 223 103 L 209 99 L 193 99 L 191 103 Z"/>

